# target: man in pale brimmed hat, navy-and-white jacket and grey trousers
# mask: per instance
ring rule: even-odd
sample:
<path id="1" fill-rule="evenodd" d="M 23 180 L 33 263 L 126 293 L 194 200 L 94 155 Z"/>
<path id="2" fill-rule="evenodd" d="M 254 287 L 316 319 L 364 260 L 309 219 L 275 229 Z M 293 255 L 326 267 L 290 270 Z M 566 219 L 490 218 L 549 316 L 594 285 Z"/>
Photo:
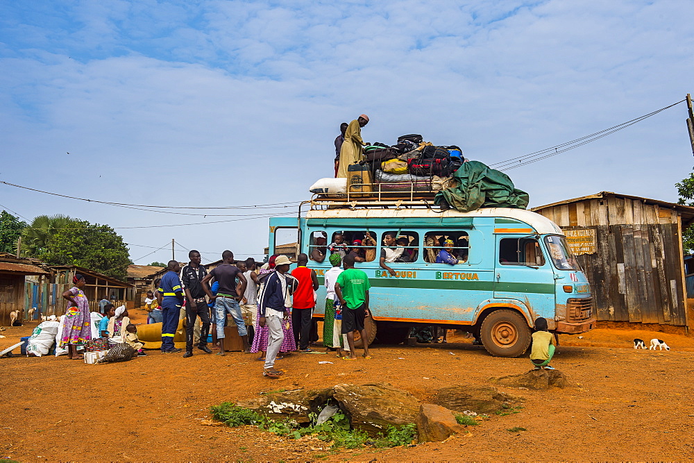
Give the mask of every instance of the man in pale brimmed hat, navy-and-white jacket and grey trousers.
<path id="1" fill-rule="evenodd" d="M 282 323 L 289 317 L 291 296 L 287 285 L 287 271 L 291 261 L 286 255 L 279 255 L 275 260 L 275 271 L 267 278 L 260 294 L 260 326 L 268 328 L 268 344 L 265 354 L 263 376 L 278 378 L 282 371 L 275 369 L 275 359 L 285 339 Z M 287 304 L 289 301 L 289 304 Z"/>

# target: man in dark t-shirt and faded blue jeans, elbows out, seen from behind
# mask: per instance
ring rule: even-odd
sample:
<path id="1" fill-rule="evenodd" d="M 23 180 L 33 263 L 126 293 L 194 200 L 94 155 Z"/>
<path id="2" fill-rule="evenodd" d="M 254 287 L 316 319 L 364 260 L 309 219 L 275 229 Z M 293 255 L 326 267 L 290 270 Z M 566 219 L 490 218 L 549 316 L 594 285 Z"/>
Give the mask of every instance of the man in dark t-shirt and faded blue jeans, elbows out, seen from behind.
<path id="1" fill-rule="evenodd" d="M 224 321 L 226 321 L 227 313 L 231 314 L 239 330 L 239 337 L 241 337 L 244 343 L 244 353 L 251 353 L 248 347 L 246 322 L 244 322 L 241 306 L 239 305 L 239 301 L 244 297 L 248 282 L 242 271 L 239 270 L 239 267 L 233 265 L 235 262 L 234 253 L 227 249 L 221 253 L 221 258 L 223 259 L 222 264 L 214 267 L 201 282 L 205 294 L 208 295 L 210 301 L 214 301 L 214 320 L 217 322 L 217 339 L 219 339 L 219 352 L 217 355 L 226 355 L 226 351 L 224 350 Z M 212 277 L 219 282 L 219 291 L 216 296 L 212 295 L 210 287 L 208 286 L 208 281 L 212 280 Z M 238 293 L 236 291 L 237 278 L 241 282 Z"/>

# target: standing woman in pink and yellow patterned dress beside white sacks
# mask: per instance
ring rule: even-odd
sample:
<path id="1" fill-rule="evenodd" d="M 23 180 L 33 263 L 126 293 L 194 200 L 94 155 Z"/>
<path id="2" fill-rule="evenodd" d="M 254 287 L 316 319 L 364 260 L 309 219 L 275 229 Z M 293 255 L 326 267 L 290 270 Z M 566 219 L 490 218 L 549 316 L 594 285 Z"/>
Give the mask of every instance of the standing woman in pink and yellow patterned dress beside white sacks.
<path id="1" fill-rule="evenodd" d="M 69 302 L 65 311 L 62 334 L 60 335 L 60 347 L 67 344 L 67 358 L 78 360 L 84 358 L 77 355 L 77 344 L 85 343 L 92 339 L 92 319 L 89 313 L 89 301 L 82 288 L 86 281 L 79 273 L 72 278 L 74 287 L 62 293 L 62 297 Z"/>

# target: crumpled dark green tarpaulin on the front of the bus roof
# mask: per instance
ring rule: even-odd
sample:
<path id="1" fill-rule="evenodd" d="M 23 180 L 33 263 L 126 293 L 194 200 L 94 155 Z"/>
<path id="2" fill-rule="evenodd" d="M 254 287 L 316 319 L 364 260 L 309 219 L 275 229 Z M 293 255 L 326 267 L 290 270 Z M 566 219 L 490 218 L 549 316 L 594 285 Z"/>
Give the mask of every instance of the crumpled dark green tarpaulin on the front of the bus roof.
<path id="1" fill-rule="evenodd" d="M 479 208 L 525 209 L 530 201 L 526 192 L 516 190 L 509 176 L 480 161 L 464 162 L 453 173 L 453 178 L 460 185 L 438 192 L 434 197 L 435 204 L 441 205 L 446 201 L 451 208 L 468 212 Z"/>

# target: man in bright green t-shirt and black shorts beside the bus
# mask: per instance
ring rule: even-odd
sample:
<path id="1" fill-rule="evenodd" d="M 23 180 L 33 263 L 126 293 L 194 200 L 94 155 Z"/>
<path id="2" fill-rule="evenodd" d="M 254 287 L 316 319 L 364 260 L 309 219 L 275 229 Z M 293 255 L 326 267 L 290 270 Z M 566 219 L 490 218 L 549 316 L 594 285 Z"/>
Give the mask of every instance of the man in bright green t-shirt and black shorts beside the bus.
<path id="1" fill-rule="evenodd" d="M 342 334 L 347 335 L 349 344 L 349 357 L 342 357 L 345 360 L 357 360 L 354 348 L 354 330 L 362 335 L 364 344 L 364 358 L 371 358 L 369 355 L 369 345 L 367 344 L 366 330 L 364 329 L 364 319 L 369 317 L 369 277 L 364 271 L 354 268 L 354 258 L 346 255 L 342 260 L 344 271 L 337 277 L 335 283 L 335 294 L 342 305 Z"/>

